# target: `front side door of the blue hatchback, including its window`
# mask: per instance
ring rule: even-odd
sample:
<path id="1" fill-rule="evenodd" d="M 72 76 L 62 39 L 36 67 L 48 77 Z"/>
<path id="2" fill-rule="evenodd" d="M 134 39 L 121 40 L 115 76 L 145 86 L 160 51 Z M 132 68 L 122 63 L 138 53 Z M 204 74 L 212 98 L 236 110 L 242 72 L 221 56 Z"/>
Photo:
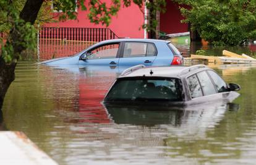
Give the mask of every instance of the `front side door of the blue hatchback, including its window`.
<path id="1" fill-rule="evenodd" d="M 120 43 L 101 44 L 96 48 L 89 49 L 80 56 L 79 65 L 117 67 Z"/>

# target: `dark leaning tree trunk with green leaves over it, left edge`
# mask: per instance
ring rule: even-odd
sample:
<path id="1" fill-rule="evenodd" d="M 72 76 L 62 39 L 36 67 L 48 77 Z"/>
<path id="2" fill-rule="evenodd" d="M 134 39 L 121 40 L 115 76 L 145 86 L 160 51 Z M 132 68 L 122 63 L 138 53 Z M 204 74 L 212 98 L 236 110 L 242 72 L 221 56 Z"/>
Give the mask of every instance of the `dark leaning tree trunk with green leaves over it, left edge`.
<path id="1" fill-rule="evenodd" d="M 35 35 L 32 25 L 42 4 L 43 0 L 27 1 L 22 11 L 18 13 L 12 1 L 0 1 L 0 9 L 6 14 L 11 28 L 6 44 L 2 45 L 0 56 L 0 107 L 9 85 L 14 80 L 14 70 L 20 53 L 30 46 L 30 38 Z"/>

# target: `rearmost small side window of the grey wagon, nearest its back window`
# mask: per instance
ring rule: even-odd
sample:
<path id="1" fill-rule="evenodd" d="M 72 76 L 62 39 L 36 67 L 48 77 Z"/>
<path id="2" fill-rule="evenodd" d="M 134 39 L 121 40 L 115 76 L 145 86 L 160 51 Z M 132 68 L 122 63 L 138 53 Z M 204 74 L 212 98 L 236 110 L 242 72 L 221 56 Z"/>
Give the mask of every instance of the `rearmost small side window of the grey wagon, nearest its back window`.
<path id="1" fill-rule="evenodd" d="M 197 75 L 191 75 L 190 77 L 188 77 L 187 82 L 189 85 L 191 98 L 198 98 L 200 96 L 203 96 L 202 88 L 198 81 Z"/>

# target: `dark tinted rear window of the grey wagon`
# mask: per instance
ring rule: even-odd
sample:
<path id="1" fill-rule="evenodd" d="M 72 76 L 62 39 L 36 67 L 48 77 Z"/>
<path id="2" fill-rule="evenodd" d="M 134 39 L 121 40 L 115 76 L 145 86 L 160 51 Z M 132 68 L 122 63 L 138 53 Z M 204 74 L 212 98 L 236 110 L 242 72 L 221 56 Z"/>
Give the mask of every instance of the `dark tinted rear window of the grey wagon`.
<path id="1" fill-rule="evenodd" d="M 105 101 L 182 101 L 177 78 L 119 78 Z"/>

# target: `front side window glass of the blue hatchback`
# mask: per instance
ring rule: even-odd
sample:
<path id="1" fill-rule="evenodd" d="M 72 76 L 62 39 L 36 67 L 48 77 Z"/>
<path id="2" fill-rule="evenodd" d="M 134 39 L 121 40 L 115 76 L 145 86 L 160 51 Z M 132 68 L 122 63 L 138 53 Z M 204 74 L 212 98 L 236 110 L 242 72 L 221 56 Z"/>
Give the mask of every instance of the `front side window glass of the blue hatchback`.
<path id="1" fill-rule="evenodd" d="M 87 59 L 116 58 L 119 43 L 105 44 L 87 52 Z"/>

